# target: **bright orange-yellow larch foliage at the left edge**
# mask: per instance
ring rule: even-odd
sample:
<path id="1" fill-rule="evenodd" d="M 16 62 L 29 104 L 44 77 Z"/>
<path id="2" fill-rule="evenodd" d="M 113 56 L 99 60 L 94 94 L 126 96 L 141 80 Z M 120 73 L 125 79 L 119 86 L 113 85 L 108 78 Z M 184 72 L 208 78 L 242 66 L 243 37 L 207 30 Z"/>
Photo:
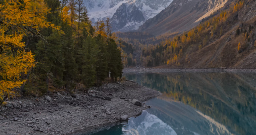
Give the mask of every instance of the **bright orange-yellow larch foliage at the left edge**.
<path id="1" fill-rule="evenodd" d="M 0 105 L 14 96 L 14 88 L 20 87 L 26 75 L 35 66 L 32 52 L 26 51 L 24 36 L 39 34 L 39 28 L 53 28 L 46 21 L 44 0 L 2 0 L 0 3 Z"/>

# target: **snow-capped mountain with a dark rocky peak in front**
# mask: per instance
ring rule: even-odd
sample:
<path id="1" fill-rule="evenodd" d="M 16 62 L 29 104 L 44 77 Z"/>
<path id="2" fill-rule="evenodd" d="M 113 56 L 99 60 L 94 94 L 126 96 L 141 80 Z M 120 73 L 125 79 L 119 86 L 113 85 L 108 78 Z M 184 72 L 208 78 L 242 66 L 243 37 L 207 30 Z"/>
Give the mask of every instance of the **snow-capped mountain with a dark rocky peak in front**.
<path id="1" fill-rule="evenodd" d="M 92 22 L 111 18 L 113 31 L 137 30 L 146 20 L 153 18 L 173 0 L 86 0 Z M 114 16 L 115 15 L 115 16 Z"/>

